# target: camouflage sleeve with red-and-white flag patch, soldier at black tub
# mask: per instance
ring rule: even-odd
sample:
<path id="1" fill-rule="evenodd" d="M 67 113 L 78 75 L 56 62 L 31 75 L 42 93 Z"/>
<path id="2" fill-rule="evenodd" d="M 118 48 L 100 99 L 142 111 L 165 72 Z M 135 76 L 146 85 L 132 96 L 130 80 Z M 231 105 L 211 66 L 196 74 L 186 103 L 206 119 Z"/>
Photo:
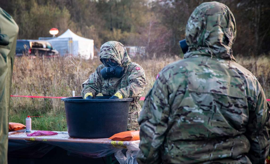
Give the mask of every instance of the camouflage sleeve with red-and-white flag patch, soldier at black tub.
<path id="1" fill-rule="evenodd" d="M 136 70 L 140 68 L 140 70 Z M 123 95 L 123 98 L 139 97 L 146 87 L 146 77 L 141 67 L 134 67 L 128 77 L 129 84 L 127 87 L 121 88 L 117 92 Z"/>

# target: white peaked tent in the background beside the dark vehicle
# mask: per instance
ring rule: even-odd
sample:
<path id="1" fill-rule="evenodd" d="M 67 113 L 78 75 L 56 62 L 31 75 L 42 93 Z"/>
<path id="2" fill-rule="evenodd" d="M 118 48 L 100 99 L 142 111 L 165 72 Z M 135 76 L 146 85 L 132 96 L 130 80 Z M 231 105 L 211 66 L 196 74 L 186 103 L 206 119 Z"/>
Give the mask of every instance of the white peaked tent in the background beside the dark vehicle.
<path id="1" fill-rule="evenodd" d="M 61 56 L 72 54 L 74 56 L 80 55 L 86 59 L 94 57 L 94 40 L 80 37 L 70 29 L 59 37 L 47 41 L 59 51 Z"/>

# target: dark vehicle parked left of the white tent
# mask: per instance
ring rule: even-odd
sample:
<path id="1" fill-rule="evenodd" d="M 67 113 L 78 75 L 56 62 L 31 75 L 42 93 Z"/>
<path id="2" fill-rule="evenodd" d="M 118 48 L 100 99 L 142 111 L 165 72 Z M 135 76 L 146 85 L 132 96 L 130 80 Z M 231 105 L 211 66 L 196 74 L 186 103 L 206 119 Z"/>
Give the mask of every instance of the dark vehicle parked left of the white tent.
<path id="1" fill-rule="evenodd" d="M 16 56 L 46 56 L 57 57 L 59 53 L 47 41 L 17 40 Z"/>

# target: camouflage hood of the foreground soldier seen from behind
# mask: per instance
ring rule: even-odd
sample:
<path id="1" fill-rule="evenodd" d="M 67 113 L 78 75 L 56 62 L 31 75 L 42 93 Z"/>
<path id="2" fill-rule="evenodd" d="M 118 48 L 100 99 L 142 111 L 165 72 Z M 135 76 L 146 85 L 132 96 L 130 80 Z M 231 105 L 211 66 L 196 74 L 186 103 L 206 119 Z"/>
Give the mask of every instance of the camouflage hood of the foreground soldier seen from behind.
<path id="1" fill-rule="evenodd" d="M 205 2 L 191 14 L 186 26 L 188 52 L 234 60 L 231 46 L 236 38 L 236 24 L 230 9 L 219 2 Z"/>

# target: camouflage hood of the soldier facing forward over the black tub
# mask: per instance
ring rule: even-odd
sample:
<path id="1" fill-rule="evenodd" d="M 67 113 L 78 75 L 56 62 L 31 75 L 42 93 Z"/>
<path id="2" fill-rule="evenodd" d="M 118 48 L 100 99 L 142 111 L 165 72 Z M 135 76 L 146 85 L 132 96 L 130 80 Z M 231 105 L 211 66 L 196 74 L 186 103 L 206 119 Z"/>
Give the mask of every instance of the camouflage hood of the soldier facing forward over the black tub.
<path id="1" fill-rule="evenodd" d="M 105 58 L 115 60 L 122 67 L 126 67 L 130 63 L 126 48 L 117 41 L 106 42 L 100 47 L 100 61 L 102 62 L 102 59 Z"/>

